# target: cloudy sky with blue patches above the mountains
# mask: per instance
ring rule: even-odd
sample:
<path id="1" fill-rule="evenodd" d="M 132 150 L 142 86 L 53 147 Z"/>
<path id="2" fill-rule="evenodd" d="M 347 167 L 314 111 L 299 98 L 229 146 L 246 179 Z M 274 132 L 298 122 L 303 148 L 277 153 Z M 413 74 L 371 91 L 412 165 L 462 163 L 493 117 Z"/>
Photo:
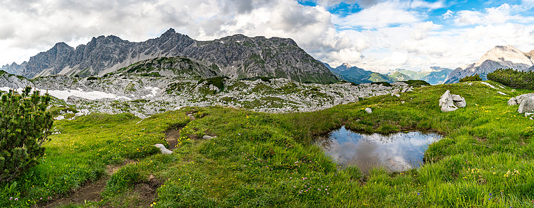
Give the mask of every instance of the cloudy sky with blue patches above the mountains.
<path id="1" fill-rule="evenodd" d="M 534 50 L 533 10 L 534 0 L 0 0 L 0 65 L 56 42 L 140 42 L 175 28 L 195 40 L 290 37 L 333 67 L 456 68 L 496 45 Z"/>

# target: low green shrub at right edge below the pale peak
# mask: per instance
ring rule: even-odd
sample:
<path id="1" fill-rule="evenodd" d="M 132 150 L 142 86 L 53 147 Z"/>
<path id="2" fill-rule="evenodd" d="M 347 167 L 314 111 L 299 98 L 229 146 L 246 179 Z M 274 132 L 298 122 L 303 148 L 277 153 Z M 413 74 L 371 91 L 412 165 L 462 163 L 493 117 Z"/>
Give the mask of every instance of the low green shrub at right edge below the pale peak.
<path id="1" fill-rule="evenodd" d="M 508 87 L 534 89 L 534 71 L 497 69 L 492 73 L 488 73 L 487 79 L 494 80 Z"/>

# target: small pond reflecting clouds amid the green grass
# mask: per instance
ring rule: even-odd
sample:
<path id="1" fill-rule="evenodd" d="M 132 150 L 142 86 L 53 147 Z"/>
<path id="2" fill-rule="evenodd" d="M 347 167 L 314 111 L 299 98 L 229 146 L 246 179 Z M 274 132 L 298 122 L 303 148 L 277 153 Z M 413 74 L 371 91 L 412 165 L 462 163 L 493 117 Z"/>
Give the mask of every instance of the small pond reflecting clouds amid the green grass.
<path id="1" fill-rule="evenodd" d="M 317 144 L 338 166 L 358 166 L 362 173 L 384 166 L 392 172 L 417 168 L 428 144 L 442 139 L 436 133 L 397 132 L 389 135 L 360 134 L 342 126 Z"/>

